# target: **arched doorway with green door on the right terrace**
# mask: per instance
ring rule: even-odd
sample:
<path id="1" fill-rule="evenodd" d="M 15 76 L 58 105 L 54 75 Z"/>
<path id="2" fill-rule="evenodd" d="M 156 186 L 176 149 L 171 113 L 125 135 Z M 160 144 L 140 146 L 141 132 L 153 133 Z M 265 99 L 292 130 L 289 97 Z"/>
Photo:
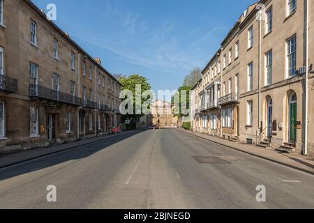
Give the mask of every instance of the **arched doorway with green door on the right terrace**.
<path id="1" fill-rule="evenodd" d="M 297 95 L 292 92 L 289 96 L 289 141 L 297 141 Z"/>

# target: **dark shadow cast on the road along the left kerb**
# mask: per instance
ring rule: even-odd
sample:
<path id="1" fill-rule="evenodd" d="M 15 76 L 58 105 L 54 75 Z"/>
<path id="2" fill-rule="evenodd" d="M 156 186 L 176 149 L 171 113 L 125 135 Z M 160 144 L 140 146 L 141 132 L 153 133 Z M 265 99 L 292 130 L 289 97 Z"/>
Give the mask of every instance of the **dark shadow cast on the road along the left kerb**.
<path id="1" fill-rule="evenodd" d="M 139 130 L 136 132 L 130 132 L 126 134 L 117 135 L 116 137 L 103 139 L 101 141 L 96 141 L 94 143 L 77 146 L 77 148 L 69 149 L 68 151 L 63 151 L 60 153 L 47 155 L 47 157 L 41 157 L 38 160 L 32 160 L 29 162 L 22 162 L 12 167 L 6 167 L 0 169 L 0 180 L 6 180 L 8 178 L 13 178 L 15 176 L 20 176 L 23 174 L 29 174 L 33 171 L 38 171 L 40 169 L 45 169 L 47 167 L 52 167 L 63 162 L 68 162 L 70 160 L 80 160 L 85 157 L 89 157 L 98 151 L 102 151 L 109 146 L 117 144 L 125 139 L 140 134 L 146 130 Z M 44 149 L 44 148 L 43 148 Z"/>

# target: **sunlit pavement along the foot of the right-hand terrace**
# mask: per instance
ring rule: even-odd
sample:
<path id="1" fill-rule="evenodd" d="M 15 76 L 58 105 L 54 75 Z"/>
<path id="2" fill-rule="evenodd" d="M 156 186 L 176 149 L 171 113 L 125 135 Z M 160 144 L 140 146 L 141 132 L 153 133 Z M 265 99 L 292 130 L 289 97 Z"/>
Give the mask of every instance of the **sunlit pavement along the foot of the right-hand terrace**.
<path id="1" fill-rule="evenodd" d="M 257 157 L 261 157 L 263 159 L 266 159 L 272 162 L 283 164 L 287 167 L 292 167 L 294 169 L 305 171 L 308 174 L 314 174 L 314 158 L 313 157 L 306 157 L 304 155 L 299 155 L 296 153 L 281 153 L 274 149 L 261 148 L 257 146 L 244 144 L 241 142 L 229 141 L 227 139 L 220 139 L 217 137 L 209 136 L 207 134 L 190 132 L 188 130 L 183 130 L 183 129 L 181 129 L 181 131 L 187 132 L 189 134 L 194 134 L 195 136 L 200 137 L 202 139 L 207 139 L 211 142 L 214 142 L 216 144 L 220 144 L 223 146 L 227 146 L 237 151 L 242 151 L 244 153 L 255 155 Z"/>

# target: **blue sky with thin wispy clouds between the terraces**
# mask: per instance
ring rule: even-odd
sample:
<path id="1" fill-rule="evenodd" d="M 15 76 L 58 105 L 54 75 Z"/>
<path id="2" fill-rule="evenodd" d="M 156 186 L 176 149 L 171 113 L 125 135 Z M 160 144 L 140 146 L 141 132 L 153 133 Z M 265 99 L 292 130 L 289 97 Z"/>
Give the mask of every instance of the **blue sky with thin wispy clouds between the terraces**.
<path id="1" fill-rule="evenodd" d="M 33 0 L 57 6 L 56 24 L 114 73 L 140 74 L 152 89 L 177 89 L 204 68 L 255 0 Z M 224 8 L 221 12 L 219 9 Z"/>

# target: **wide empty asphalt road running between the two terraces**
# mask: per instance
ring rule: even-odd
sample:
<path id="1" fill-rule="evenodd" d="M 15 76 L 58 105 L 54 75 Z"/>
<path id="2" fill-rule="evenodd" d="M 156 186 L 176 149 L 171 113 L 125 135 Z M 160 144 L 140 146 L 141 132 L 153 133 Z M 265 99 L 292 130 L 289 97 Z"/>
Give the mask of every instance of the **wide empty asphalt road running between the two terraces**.
<path id="1" fill-rule="evenodd" d="M 57 202 L 47 202 L 47 185 Z M 0 208 L 314 208 L 314 176 L 180 130 L 148 130 L 0 169 Z"/>

